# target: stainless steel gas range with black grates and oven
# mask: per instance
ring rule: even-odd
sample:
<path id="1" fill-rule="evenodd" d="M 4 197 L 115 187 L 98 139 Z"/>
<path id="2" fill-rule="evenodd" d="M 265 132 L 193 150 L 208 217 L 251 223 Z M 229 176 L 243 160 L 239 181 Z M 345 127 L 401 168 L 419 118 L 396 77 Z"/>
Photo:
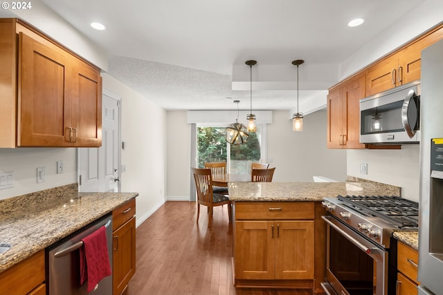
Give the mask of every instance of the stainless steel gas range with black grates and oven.
<path id="1" fill-rule="evenodd" d="M 417 229 L 418 203 L 395 196 L 325 198 L 328 214 L 326 294 L 390 294 L 393 231 Z M 393 284 L 393 285 L 392 285 Z"/>

